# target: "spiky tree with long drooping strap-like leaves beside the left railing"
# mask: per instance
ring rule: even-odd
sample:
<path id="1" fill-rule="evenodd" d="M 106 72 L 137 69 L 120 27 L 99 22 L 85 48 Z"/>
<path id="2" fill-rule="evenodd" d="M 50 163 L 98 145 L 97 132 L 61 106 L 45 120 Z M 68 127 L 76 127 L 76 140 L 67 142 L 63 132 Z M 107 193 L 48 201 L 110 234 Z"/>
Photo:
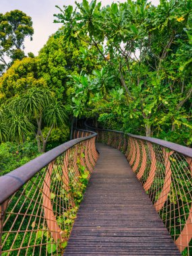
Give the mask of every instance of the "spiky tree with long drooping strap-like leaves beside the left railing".
<path id="1" fill-rule="evenodd" d="M 24 141 L 29 133 L 34 133 L 38 145 L 38 152 L 46 150 L 46 143 L 53 127 L 62 125 L 66 121 L 65 107 L 55 93 L 44 88 L 30 88 L 25 94 L 13 98 L 1 110 L 1 139 L 5 137 L 11 141 Z M 44 137 L 43 127 L 49 127 Z M 6 127 L 6 133 L 5 133 Z"/>

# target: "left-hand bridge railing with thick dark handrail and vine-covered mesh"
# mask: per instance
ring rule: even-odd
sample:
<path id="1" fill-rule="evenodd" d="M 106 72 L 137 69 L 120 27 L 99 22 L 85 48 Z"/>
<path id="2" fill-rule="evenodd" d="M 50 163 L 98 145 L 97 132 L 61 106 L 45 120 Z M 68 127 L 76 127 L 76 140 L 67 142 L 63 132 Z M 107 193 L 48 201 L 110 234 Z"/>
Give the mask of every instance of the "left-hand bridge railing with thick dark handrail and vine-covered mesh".
<path id="1" fill-rule="evenodd" d="M 96 164 L 96 133 L 0 177 L 0 255 L 62 255 Z"/>

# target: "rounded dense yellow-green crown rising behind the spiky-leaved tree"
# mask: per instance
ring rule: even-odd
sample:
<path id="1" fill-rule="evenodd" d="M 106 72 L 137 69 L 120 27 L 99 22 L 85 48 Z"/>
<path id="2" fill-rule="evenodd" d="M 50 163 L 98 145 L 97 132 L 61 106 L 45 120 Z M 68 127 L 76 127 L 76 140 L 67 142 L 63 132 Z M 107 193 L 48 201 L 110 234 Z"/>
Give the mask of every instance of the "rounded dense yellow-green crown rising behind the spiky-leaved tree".
<path id="1" fill-rule="evenodd" d="M 59 98 L 66 100 L 67 90 L 72 86 L 69 75 L 77 75 L 81 71 L 92 73 L 98 67 L 97 55 L 93 47 L 88 51 L 86 42 L 63 42 L 63 35 L 53 35 L 37 57 L 38 75 L 57 92 Z"/>

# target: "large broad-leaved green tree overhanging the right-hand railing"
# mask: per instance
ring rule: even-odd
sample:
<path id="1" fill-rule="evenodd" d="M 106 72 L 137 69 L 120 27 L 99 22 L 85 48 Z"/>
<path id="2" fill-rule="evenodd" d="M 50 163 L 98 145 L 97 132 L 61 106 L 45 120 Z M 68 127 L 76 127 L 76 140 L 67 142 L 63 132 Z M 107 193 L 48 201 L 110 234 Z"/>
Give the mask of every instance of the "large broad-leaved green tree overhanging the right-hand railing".
<path id="1" fill-rule="evenodd" d="M 170 127 L 173 132 L 175 125 L 191 129 L 191 55 L 181 51 L 190 49 L 191 1 L 162 0 L 158 7 L 146 0 L 106 7 L 84 0 L 76 5 L 75 10 L 60 8 L 55 15 L 65 25 L 64 40 L 88 36 L 86 42 L 115 71 L 127 98 L 122 113 L 125 120 L 140 119 L 148 136 Z"/>

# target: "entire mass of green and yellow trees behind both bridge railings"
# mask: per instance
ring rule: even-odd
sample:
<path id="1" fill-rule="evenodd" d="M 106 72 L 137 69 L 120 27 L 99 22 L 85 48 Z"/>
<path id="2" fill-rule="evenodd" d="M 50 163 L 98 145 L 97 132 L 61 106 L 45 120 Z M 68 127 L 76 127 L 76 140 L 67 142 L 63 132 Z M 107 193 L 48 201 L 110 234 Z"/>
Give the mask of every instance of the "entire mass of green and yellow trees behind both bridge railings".
<path id="1" fill-rule="evenodd" d="M 7 141 L 49 150 L 69 139 L 75 117 L 191 146 L 191 1 L 58 8 L 63 27 L 37 57 L 12 58 L 0 77 L 1 150 Z M 2 62 L 33 29 L 18 10 L 1 14 L 0 24 Z"/>

